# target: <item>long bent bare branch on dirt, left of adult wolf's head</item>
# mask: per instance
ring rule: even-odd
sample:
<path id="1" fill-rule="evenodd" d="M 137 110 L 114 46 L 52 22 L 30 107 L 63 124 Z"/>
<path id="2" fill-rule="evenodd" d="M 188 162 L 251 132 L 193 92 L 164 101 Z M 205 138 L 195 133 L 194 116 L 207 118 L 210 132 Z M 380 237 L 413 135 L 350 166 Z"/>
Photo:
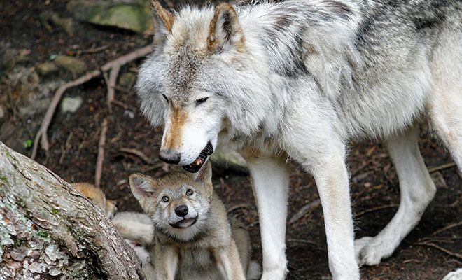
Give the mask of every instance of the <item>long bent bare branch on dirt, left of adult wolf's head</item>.
<path id="1" fill-rule="evenodd" d="M 127 55 L 124 55 L 122 57 L 119 57 L 118 59 L 115 59 L 111 62 L 104 64 L 101 67 L 101 70 L 94 70 L 94 71 L 87 72 L 84 76 L 78 78 L 77 80 L 73 80 L 72 82 L 66 83 L 65 85 L 62 85 L 61 87 L 59 87 L 57 91 L 55 92 L 55 96 L 53 97 L 52 102 L 50 106 L 48 107 L 48 110 L 45 113 L 45 117 L 43 117 L 41 127 L 38 130 L 36 137 L 34 139 L 34 146 L 32 148 L 31 158 L 35 160 L 36 155 L 37 155 L 37 150 L 38 150 L 38 141 L 40 140 L 41 140 L 41 147 L 45 151 L 48 151 L 49 144 L 48 144 L 48 137 L 46 136 L 48 127 L 50 126 L 52 117 L 55 114 L 56 107 L 61 101 L 62 94 L 64 94 L 64 92 L 67 89 L 69 89 L 70 87 L 75 87 L 77 85 L 82 85 L 83 83 L 86 83 L 92 78 L 96 78 L 97 76 L 100 76 L 103 72 L 105 73 L 114 68 L 117 70 L 116 72 L 118 73 L 118 70 L 120 70 L 120 66 L 123 66 L 127 64 L 128 62 L 132 62 L 133 60 L 138 59 L 139 57 L 144 57 L 148 55 L 149 53 L 151 53 L 152 51 L 153 51 L 152 46 L 147 45 L 144 48 L 140 48 L 139 50 L 135 50 L 134 52 L 130 52 Z M 116 79 L 117 79 L 117 76 L 113 78 L 113 80 L 116 80 Z M 111 83 L 114 83 L 114 85 L 111 86 Z M 112 89 L 115 87 L 115 82 L 113 82 L 110 77 L 108 88 L 111 88 L 111 87 Z M 109 98 L 113 100 L 113 97 L 109 97 Z"/>

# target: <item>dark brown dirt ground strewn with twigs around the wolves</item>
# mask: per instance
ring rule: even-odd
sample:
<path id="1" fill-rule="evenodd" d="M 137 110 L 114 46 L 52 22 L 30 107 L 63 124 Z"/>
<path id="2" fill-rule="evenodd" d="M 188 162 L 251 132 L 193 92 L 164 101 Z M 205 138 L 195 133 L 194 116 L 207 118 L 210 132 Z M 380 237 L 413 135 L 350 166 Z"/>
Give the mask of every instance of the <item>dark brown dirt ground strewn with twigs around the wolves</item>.
<path id="1" fill-rule="evenodd" d="M 106 62 L 141 48 L 151 42 L 149 36 L 111 27 L 76 22 L 76 31 L 69 36 L 59 27 L 51 30 L 41 25 L 39 14 L 52 10 L 62 17 L 70 17 L 66 0 L 5 1 L 0 0 L 0 46 L 23 51 L 26 59 L 20 65 L 34 67 L 48 62 L 52 55 L 76 55 L 87 63 L 88 69 L 98 69 Z M 174 4 L 174 3 L 170 3 Z M 108 45 L 102 52 L 83 53 Z M 1 60 L 1 59 L 0 59 Z M 136 72 L 140 61 L 123 66 L 120 74 Z M 6 69 L 0 67 L 0 76 Z M 40 77 L 39 82 L 61 78 L 73 80 L 70 71 L 59 70 L 53 76 Z M 4 82 L 4 81 L 3 81 Z M 17 88 L 1 83 L 0 101 L 6 116 L 0 118 L 0 141 L 7 146 L 31 155 L 25 143 L 34 139 L 44 112 L 31 116 L 18 113 L 17 107 L 25 97 Z M 48 130 L 50 150 L 39 150 L 37 161 L 69 182 L 94 181 L 97 149 L 103 120 L 109 120 L 102 188 L 111 200 L 116 200 L 119 211 L 140 211 L 127 186 L 133 172 L 158 176 L 177 167 L 162 164 L 158 149 L 161 129 L 153 129 L 141 116 L 139 103 L 131 85 L 116 90 L 116 104 L 109 112 L 106 106 L 106 84 L 99 77 L 89 83 L 73 87 L 64 96 L 83 99 L 76 113 L 59 110 Z M 437 139 L 430 137 L 428 125 L 422 123 L 421 153 L 429 168 L 453 162 Z M 27 146 L 27 145 L 26 145 Z M 124 148 L 147 155 L 140 158 Z M 391 220 L 399 204 L 398 178 L 381 143 L 363 141 L 351 143 L 349 153 L 351 197 L 356 215 L 356 237 L 377 235 Z M 290 166 L 290 202 L 288 218 L 292 218 L 305 204 L 316 202 L 316 184 L 309 174 L 293 163 Z M 450 253 L 462 253 L 462 227 L 442 230 L 461 221 L 462 176 L 455 166 L 432 172 L 437 183 L 437 195 L 430 203 L 419 225 L 405 238 L 391 258 L 380 265 L 363 267 L 363 279 L 442 279 L 448 272 L 462 267 L 462 260 Z M 251 233 L 253 258 L 261 263 L 260 228 L 258 214 L 248 174 L 230 169 L 214 169 L 216 190 L 228 209 L 239 218 Z M 442 230 L 433 234 L 437 230 Z M 435 244 L 446 250 L 437 249 Z M 321 206 L 314 207 L 302 218 L 287 223 L 287 257 L 290 270 L 287 279 L 330 279 Z"/>

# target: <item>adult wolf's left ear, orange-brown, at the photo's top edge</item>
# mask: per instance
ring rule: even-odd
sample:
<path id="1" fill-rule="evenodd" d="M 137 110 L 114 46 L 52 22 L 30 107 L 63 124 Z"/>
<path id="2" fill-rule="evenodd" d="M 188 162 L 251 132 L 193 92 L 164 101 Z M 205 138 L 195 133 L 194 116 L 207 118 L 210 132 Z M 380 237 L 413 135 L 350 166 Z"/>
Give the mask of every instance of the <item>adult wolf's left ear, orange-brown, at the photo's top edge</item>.
<path id="1" fill-rule="evenodd" d="M 165 41 L 168 34 L 172 33 L 175 15 L 160 6 L 158 1 L 151 2 L 151 13 L 154 18 L 153 45 L 160 45 Z"/>

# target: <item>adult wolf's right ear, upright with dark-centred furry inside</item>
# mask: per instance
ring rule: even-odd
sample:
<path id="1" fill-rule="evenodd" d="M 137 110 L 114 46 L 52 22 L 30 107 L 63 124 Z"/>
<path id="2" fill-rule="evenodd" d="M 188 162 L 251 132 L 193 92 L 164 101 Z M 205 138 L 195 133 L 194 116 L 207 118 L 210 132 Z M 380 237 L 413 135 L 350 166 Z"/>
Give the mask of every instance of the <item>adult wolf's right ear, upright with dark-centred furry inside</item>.
<path id="1" fill-rule="evenodd" d="M 215 8 L 214 18 L 210 22 L 210 34 L 207 38 L 209 52 L 241 49 L 244 48 L 244 41 L 235 8 L 228 3 L 221 3 Z"/>

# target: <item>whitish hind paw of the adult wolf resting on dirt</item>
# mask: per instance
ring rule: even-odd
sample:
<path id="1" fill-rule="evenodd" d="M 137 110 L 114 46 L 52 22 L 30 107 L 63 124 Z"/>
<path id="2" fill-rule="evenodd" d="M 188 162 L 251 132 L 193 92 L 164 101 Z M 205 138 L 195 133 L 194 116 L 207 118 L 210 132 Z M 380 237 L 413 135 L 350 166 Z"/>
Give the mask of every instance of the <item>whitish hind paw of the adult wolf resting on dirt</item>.
<path id="1" fill-rule="evenodd" d="M 363 237 L 354 241 L 354 251 L 358 265 L 378 265 L 384 253 L 381 246 L 374 244 L 373 237 Z"/>

